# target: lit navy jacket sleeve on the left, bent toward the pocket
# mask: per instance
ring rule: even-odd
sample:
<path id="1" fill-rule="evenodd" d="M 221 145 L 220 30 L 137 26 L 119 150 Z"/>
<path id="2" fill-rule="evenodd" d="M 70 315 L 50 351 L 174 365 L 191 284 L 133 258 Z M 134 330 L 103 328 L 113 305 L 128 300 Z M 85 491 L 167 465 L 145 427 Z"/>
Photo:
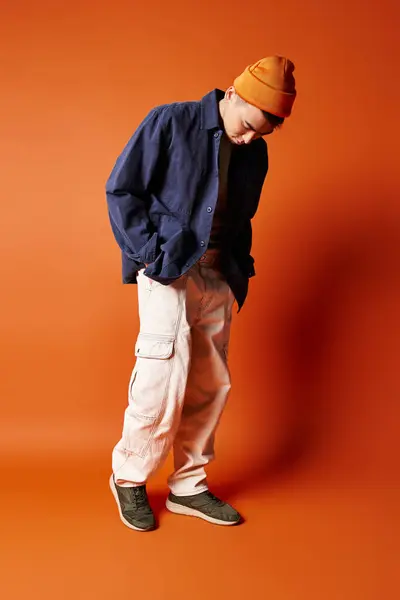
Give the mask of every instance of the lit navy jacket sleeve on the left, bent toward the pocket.
<path id="1" fill-rule="evenodd" d="M 148 199 L 163 151 L 162 110 L 153 109 L 133 134 L 106 183 L 108 214 L 122 252 L 141 263 L 157 254 L 157 231 L 148 214 Z"/>

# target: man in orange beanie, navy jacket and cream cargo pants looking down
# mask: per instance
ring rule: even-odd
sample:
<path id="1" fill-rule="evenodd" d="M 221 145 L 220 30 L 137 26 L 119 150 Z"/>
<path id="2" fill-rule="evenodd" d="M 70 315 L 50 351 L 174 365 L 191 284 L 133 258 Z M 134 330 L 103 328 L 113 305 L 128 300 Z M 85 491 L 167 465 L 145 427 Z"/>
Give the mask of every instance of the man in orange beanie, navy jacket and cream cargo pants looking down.
<path id="1" fill-rule="evenodd" d="M 253 218 L 268 170 L 263 139 L 296 97 L 293 63 L 264 58 L 200 102 L 153 109 L 107 181 L 124 283 L 138 284 L 140 332 L 110 487 L 121 520 L 154 529 L 146 482 L 170 449 L 167 508 L 219 525 L 239 513 L 205 466 L 230 390 L 232 306 L 255 275 Z"/>

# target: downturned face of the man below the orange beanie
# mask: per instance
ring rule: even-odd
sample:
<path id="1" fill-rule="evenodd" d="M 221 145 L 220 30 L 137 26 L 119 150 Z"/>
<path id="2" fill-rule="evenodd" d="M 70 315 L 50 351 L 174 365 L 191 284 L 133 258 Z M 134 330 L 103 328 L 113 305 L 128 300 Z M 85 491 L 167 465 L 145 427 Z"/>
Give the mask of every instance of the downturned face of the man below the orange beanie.
<path id="1" fill-rule="evenodd" d="M 262 111 L 242 100 L 233 87 L 226 91 L 220 112 L 225 133 L 233 144 L 250 144 L 274 131 Z"/>

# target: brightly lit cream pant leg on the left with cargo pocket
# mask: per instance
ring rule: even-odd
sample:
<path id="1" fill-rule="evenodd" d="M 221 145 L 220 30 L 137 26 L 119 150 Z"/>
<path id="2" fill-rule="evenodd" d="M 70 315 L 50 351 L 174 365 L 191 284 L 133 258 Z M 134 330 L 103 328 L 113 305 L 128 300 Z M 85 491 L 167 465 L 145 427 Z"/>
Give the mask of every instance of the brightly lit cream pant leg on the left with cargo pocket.
<path id="1" fill-rule="evenodd" d="M 186 284 L 186 276 L 164 286 L 139 272 L 136 363 L 122 438 L 112 455 L 118 485 L 145 483 L 172 446 L 190 365 Z"/>

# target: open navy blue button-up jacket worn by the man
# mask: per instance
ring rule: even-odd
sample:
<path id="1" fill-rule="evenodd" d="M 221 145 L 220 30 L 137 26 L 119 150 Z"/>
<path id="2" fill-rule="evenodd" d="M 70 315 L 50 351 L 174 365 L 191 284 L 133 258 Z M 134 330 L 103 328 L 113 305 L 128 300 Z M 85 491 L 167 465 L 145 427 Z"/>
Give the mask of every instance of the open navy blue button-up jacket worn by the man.
<path id="1" fill-rule="evenodd" d="M 218 198 L 223 124 L 213 90 L 200 102 L 150 111 L 106 183 L 111 227 L 122 251 L 122 281 L 136 273 L 168 285 L 207 249 Z M 268 171 L 266 142 L 233 146 L 228 173 L 228 227 L 222 271 L 241 309 L 255 275 L 251 219 Z"/>

